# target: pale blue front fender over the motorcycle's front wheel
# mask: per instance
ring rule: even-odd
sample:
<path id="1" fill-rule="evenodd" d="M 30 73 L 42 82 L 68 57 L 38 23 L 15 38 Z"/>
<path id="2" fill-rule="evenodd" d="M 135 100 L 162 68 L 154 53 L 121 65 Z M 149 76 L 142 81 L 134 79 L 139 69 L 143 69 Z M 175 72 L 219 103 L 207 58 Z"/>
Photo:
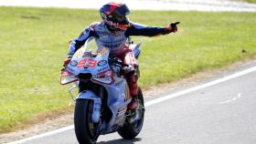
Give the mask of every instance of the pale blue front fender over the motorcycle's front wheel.
<path id="1" fill-rule="evenodd" d="M 84 90 L 80 92 L 78 98 L 76 99 L 90 99 L 93 101 L 93 111 L 91 115 L 91 121 L 93 123 L 97 123 L 100 120 L 101 116 L 101 98 L 96 96 L 92 91 L 90 90 Z"/>

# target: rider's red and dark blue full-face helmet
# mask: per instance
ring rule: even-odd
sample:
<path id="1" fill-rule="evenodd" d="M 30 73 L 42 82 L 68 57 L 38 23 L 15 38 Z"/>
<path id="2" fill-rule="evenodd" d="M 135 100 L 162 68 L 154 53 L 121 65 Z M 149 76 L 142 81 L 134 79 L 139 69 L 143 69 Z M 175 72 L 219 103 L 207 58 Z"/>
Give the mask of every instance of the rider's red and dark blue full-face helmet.
<path id="1" fill-rule="evenodd" d="M 131 14 L 129 8 L 122 3 L 108 3 L 100 9 L 101 18 L 113 30 L 125 30 L 130 26 L 126 15 Z"/>

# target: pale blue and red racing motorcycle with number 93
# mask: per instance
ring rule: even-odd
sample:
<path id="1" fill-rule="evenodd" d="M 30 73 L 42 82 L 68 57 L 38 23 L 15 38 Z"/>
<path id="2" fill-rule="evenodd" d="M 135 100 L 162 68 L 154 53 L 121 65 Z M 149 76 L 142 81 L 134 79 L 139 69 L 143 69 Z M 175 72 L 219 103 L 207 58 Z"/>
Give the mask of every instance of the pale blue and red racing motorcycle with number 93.
<path id="1" fill-rule="evenodd" d="M 136 58 L 141 52 L 140 45 L 131 44 Z M 110 49 L 89 39 L 61 71 L 60 84 L 74 84 L 69 88 L 69 95 L 76 103 L 74 128 L 80 144 L 94 144 L 100 135 L 112 132 L 118 132 L 123 139 L 134 139 L 143 128 L 142 90 L 139 88 L 139 107 L 127 108 L 132 97 L 121 74 L 123 63 L 112 57 Z M 74 97 L 76 87 L 79 87 L 79 94 Z"/>

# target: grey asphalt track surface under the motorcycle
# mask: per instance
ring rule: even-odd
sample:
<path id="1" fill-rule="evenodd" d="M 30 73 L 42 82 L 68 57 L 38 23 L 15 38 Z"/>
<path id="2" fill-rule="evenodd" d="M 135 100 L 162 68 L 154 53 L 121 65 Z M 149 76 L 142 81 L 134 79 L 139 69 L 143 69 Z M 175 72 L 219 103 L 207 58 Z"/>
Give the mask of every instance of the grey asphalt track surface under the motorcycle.
<path id="1" fill-rule="evenodd" d="M 145 99 L 144 128 L 136 139 L 117 133 L 99 144 L 254 144 L 256 142 L 256 67 L 209 79 L 197 86 Z M 72 126 L 70 126 L 72 127 Z M 76 144 L 74 129 L 21 144 Z"/>

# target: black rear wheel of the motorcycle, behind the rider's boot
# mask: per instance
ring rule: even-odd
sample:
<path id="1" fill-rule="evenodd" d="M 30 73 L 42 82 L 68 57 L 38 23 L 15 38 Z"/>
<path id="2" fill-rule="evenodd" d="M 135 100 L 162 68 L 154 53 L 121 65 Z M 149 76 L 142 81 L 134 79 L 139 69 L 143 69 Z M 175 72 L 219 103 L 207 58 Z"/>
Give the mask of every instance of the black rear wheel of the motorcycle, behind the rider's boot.
<path id="1" fill-rule="evenodd" d="M 141 88 L 139 88 L 139 101 L 140 108 L 136 110 L 136 115 L 140 115 L 140 118 L 135 120 L 134 122 L 126 121 L 123 125 L 122 129 L 118 130 L 118 134 L 123 139 L 134 139 L 143 129 L 144 124 L 144 97 Z"/>

